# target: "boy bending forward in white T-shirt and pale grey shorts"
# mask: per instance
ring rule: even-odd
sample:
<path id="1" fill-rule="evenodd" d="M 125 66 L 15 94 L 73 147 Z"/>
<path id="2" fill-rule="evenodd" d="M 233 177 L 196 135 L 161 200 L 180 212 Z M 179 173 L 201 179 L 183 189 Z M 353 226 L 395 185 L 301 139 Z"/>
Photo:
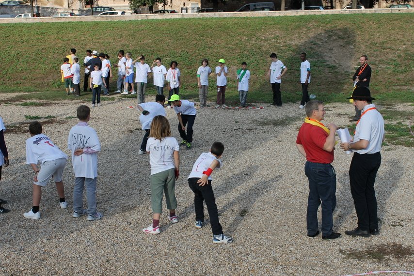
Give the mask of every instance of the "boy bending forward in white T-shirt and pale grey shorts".
<path id="1" fill-rule="evenodd" d="M 64 199 L 64 184 L 62 181 L 64 166 L 67 155 L 64 154 L 48 136 L 42 134 L 42 124 L 32 122 L 29 125 L 31 138 L 26 140 L 26 164 L 30 164 L 34 171 L 33 178 L 33 206 L 32 210 L 24 213 L 26 218 L 39 219 L 39 204 L 42 197 L 42 186 L 48 184 L 51 177 L 56 183 L 59 194 L 59 205 L 66 209 L 67 203 Z M 40 163 L 40 170 L 37 164 Z"/>

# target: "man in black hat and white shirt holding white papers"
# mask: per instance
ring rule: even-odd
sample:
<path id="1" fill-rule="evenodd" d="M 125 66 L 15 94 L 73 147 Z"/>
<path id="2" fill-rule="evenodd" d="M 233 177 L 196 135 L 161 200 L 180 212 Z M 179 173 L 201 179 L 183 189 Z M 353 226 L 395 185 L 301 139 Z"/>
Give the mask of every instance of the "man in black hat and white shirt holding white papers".
<path id="1" fill-rule="evenodd" d="M 350 189 L 358 217 L 358 227 L 345 231 L 350 236 L 378 235 L 377 198 L 374 183 L 381 165 L 381 144 L 384 140 L 384 119 L 372 101 L 369 89 L 356 87 L 353 105 L 362 111 L 350 143 L 341 143 L 344 151 L 353 151 L 350 164 Z"/>

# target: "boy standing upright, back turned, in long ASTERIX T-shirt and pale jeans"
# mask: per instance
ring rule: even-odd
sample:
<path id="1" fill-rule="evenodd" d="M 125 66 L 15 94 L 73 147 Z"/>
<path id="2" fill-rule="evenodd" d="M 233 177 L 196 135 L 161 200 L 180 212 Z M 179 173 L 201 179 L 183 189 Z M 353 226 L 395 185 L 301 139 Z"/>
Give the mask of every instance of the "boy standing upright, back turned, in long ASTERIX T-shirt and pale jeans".
<path id="1" fill-rule="evenodd" d="M 101 219 L 102 214 L 96 212 L 96 178 L 98 176 L 97 153 L 101 150 L 95 129 L 88 126 L 91 109 L 80 106 L 76 110 L 79 123 L 69 131 L 67 148 L 72 151 L 72 165 L 75 173 L 73 187 L 73 217 L 88 214 L 88 220 Z M 88 210 L 83 209 L 83 187 L 86 185 Z"/>

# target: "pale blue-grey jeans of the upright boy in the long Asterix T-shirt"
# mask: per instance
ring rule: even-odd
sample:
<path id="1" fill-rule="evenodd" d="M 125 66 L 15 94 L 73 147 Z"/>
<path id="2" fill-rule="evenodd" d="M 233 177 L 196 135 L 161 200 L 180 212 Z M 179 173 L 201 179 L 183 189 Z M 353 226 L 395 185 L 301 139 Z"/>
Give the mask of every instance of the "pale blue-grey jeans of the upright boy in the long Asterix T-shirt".
<path id="1" fill-rule="evenodd" d="M 88 200 L 88 215 L 96 215 L 96 177 L 76 177 L 73 187 L 73 211 L 83 211 L 83 187 L 86 184 L 86 199 Z"/>

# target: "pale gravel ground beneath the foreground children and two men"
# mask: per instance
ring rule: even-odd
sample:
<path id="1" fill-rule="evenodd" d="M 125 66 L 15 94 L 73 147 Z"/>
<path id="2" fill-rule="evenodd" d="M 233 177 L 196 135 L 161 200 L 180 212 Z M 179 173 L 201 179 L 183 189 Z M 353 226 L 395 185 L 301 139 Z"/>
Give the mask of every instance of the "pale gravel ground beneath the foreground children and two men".
<path id="1" fill-rule="evenodd" d="M 12 95 L 0 94 L 0 100 Z M 328 242 L 322 242 L 320 235 L 308 239 L 305 159 L 295 147 L 304 117 L 298 104 L 285 104 L 282 108 L 262 104 L 263 109 L 198 109 L 193 148 L 180 151 L 181 176 L 176 183 L 180 220 L 171 225 L 164 205 L 161 233 L 145 235 L 142 228 L 151 222 L 149 160 L 148 155 L 138 155 L 144 133 L 139 113 L 125 108 L 135 106 L 136 100 L 105 101 L 102 107 L 92 110 L 90 121 L 102 145 L 97 205 L 103 219 L 90 222 L 86 217 L 71 216 L 74 175 L 70 160 L 64 171 L 69 207 L 58 208 L 55 185 L 49 183 L 43 190 L 41 219 L 26 219 L 23 213 L 32 206 L 33 173 L 25 164 L 24 145 L 31 121 L 24 116 L 56 116 L 40 120 L 46 122 L 44 133 L 70 155 L 66 150 L 67 135 L 78 121 L 67 117 L 76 117 L 80 104 L 85 102 L 0 106 L 6 127 L 15 125 L 6 131 L 11 165 L 3 168 L 0 182 L 1 198 L 9 201 L 5 206 L 11 210 L 0 215 L 1 274 L 325 276 L 414 271 L 410 250 L 414 242 L 413 148 L 390 145 L 382 150 L 376 182 L 379 236 L 343 235 Z M 414 111 L 409 104 L 393 108 Z M 329 104 L 325 109 L 325 123 L 345 126 L 353 115 L 353 107 L 346 103 Z M 166 111 L 173 135 L 180 140 L 176 115 L 172 109 Z M 212 243 L 208 224 L 201 230 L 194 228 L 193 195 L 187 184 L 193 162 L 215 140 L 226 147 L 223 168 L 213 174 L 213 189 L 224 233 L 234 238 L 228 245 Z M 334 230 L 341 233 L 356 227 L 348 178 L 350 160 L 351 155 L 336 150 L 333 165 L 338 202 Z M 207 209 L 205 212 L 207 215 Z M 408 256 L 399 256 L 397 253 L 404 248 L 409 248 L 405 252 Z M 376 252 L 379 253 L 375 255 Z M 393 252 L 397 253 L 392 255 Z M 354 258 L 358 254 L 359 259 Z"/>

